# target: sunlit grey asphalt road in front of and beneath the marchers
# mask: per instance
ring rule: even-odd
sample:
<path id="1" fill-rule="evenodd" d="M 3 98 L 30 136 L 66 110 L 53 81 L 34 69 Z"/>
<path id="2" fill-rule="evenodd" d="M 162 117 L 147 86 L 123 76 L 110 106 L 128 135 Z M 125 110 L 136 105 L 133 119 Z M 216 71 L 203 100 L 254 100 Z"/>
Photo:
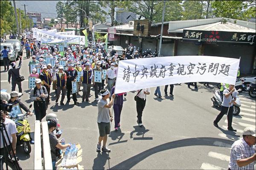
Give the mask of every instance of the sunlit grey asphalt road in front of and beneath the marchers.
<path id="1" fill-rule="evenodd" d="M 26 79 L 22 82 L 24 95 L 21 101 L 27 106 L 32 103 L 27 81 L 29 60 L 23 59 L 20 70 Z M 1 66 L 1 88 L 10 92 L 7 77 Z M 198 91 L 193 86 L 192 89 L 187 88 L 186 84 L 175 85 L 174 97 L 164 96 L 163 99 L 154 96 L 155 88 L 151 88 L 143 111 L 143 127 L 136 123 L 136 94 L 128 92 L 122 109 L 121 127 L 116 132 L 111 126 L 107 142 L 111 149 L 109 155 L 96 152 L 99 132 L 94 91 L 91 91 L 89 103 L 81 103 L 81 96 L 78 96 L 78 106 L 73 105 L 72 99 L 70 105 L 55 105 L 54 93 L 51 92 L 47 113 L 58 115 L 63 130 L 61 137 L 66 142 L 81 144 L 83 158 L 80 164 L 85 169 L 227 169 L 231 144 L 241 137 L 244 127 L 255 128 L 255 99 L 246 93 L 239 94 L 241 113 L 233 117 L 233 127 L 238 132 L 231 132 L 227 130 L 226 116 L 219 122 L 220 128 L 212 125 L 220 112 L 210 100 L 215 83 L 210 83 L 210 87 L 198 84 Z M 66 101 L 67 98 L 64 103 Z M 29 117 L 28 121 L 33 136 L 35 116 Z M 33 169 L 33 155 L 33 145 L 30 156 L 23 152 L 22 147 L 17 147 L 23 169 Z"/>

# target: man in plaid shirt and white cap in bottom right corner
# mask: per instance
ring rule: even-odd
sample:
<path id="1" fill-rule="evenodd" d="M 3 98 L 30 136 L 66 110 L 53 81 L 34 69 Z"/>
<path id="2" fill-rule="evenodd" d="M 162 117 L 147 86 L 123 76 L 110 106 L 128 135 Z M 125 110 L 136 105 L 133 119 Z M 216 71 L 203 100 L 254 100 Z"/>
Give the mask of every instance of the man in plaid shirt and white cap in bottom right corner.
<path id="1" fill-rule="evenodd" d="M 229 170 L 254 170 L 256 159 L 255 127 L 245 127 L 243 138 L 231 146 Z"/>

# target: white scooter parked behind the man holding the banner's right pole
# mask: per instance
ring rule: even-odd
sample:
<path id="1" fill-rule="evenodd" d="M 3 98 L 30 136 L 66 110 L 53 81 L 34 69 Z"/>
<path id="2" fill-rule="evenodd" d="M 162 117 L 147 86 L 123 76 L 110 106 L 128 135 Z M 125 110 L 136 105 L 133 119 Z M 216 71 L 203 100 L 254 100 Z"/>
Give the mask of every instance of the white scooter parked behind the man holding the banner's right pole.
<path id="1" fill-rule="evenodd" d="M 240 90 L 241 91 L 241 90 Z M 233 115 L 239 115 L 240 113 L 240 107 L 241 107 L 241 101 L 238 96 L 238 91 L 236 91 L 236 101 L 233 103 Z M 215 93 L 213 94 L 213 97 L 211 98 L 213 106 L 214 107 L 221 107 L 222 99 L 221 99 L 221 93 L 219 90 L 215 90 Z"/>

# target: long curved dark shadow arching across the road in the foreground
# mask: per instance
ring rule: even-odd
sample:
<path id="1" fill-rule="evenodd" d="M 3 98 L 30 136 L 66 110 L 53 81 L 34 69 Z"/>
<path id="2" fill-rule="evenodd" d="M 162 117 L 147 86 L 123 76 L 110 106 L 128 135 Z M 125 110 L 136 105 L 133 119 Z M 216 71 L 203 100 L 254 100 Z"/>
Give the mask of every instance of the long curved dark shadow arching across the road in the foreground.
<path id="1" fill-rule="evenodd" d="M 136 164 L 140 163 L 144 159 L 152 156 L 155 153 L 162 152 L 164 150 L 174 149 L 178 147 L 187 147 L 187 146 L 216 146 L 214 143 L 223 142 L 227 144 L 233 144 L 234 141 L 228 139 L 219 139 L 219 138 L 209 138 L 209 137 L 201 137 L 201 138 L 189 138 L 189 139 L 181 139 L 173 142 L 168 142 L 165 144 L 158 145 L 156 147 L 152 147 L 151 149 L 145 150 L 142 153 L 139 153 L 121 163 L 111 167 L 112 170 L 120 170 L 120 169 L 132 169 Z M 218 146 L 224 147 L 224 146 Z M 195 153 L 196 156 L 196 153 Z M 171 158 L 170 158 L 171 159 Z M 166 160 L 168 161 L 168 160 Z M 182 161 L 180 161 L 181 163 Z"/>

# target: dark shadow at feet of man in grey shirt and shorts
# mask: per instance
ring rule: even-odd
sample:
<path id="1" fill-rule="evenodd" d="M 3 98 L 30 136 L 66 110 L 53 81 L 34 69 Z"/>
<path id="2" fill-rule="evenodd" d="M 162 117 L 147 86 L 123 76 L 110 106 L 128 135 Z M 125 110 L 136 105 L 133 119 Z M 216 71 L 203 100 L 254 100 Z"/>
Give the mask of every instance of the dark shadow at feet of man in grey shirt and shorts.
<path id="1" fill-rule="evenodd" d="M 95 148 L 96 149 L 96 148 Z M 97 157 L 93 160 L 93 170 L 105 170 L 109 169 L 109 162 L 108 167 L 104 167 L 107 160 L 109 161 L 109 155 L 106 152 L 98 152 Z"/>

